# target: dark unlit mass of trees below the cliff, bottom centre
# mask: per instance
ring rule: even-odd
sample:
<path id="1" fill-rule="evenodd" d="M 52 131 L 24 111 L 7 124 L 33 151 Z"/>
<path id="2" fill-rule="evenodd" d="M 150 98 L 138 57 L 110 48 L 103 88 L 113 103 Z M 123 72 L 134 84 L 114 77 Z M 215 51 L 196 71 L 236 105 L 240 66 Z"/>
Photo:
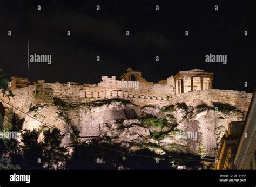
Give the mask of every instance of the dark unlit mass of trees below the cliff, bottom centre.
<path id="1" fill-rule="evenodd" d="M 130 153 L 130 151 L 120 145 L 98 144 L 96 141 L 93 145 L 87 145 L 83 142 L 74 147 L 71 158 L 66 162 L 66 169 L 174 169 L 169 160 L 160 160 L 156 163 L 153 157 L 160 158 L 161 156 L 148 149 L 132 153 L 152 156 L 152 158 L 125 153 Z"/>

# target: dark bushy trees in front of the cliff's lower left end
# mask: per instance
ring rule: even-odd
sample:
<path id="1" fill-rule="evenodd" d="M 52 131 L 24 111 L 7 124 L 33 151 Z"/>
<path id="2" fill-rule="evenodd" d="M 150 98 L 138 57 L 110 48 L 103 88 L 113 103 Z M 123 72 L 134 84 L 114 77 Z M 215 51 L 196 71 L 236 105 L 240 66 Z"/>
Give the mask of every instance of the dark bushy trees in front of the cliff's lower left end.
<path id="1" fill-rule="evenodd" d="M 15 164 L 19 163 L 18 169 L 53 169 L 53 166 L 61 169 L 59 162 L 67 159 L 66 149 L 60 145 L 64 135 L 57 128 L 44 129 L 44 142 L 38 142 L 39 134 L 40 131 L 24 130 L 21 142 L 10 139 L 4 154 Z"/>

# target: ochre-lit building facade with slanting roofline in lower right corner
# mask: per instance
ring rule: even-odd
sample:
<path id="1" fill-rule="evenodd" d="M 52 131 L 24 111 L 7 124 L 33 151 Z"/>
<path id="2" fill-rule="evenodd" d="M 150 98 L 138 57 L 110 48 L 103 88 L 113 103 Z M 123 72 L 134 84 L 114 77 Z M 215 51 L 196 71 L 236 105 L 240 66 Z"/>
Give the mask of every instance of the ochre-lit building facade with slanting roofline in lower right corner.
<path id="1" fill-rule="evenodd" d="M 256 169 L 255 91 L 245 121 L 232 122 L 221 140 L 215 169 Z"/>

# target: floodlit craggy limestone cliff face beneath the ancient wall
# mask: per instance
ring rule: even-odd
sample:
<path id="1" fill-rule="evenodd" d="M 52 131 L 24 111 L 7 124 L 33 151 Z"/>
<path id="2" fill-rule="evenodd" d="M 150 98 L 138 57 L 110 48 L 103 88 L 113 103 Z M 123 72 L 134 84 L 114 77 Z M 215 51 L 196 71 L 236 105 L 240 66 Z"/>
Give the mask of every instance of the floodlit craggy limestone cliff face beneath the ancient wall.
<path id="1" fill-rule="evenodd" d="M 200 154 L 201 146 L 211 157 L 216 156 L 228 123 L 242 118 L 240 113 L 223 114 L 211 108 L 202 110 L 179 105 L 161 109 L 122 101 L 75 107 L 37 105 L 28 114 L 35 119 L 25 116 L 23 129 L 40 130 L 42 123 L 38 120 L 55 126 L 71 134 L 63 138 L 65 147 L 77 138 L 79 141 L 95 139 L 99 143 L 119 144 L 131 151 L 149 149 L 157 154 Z"/>

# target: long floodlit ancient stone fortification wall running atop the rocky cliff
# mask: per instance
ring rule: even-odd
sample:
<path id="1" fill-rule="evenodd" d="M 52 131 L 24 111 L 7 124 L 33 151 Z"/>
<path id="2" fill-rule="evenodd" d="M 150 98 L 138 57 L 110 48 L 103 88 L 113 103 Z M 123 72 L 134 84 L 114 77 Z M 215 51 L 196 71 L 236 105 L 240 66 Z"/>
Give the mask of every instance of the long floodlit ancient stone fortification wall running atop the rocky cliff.
<path id="1" fill-rule="evenodd" d="M 98 85 L 68 85 L 60 83 L 42 83 L 30 85 L 29 87 L 13 91 L 14 97 L 6 101 L 19 107 L 25 112 L 37 104 L 53 104 L 53 98 L 59 98 L 70 104 L 90 102 L 92 100 L 121 98 L 130 100 L 139 106 L 154 105 L 168 106 L 177 103 L 197 106 L 206 104 L 213 106 L 213 103 L 228 103 L 242 111 L 247 111 L 250 105 L 252 93 L 208 89 L 175 95 L 170 85 L 154 84 L 153 86 L 140 84 L 138 90 L 134 88 L 117 88 L 116 80 L 112 85 L 107 81 Z M 107 85 L 107 86 L 106 86 Z M 0 96 L 2 98 L 2 95 Z M 2 103 L 5 107 L 10 107 Z"/>

